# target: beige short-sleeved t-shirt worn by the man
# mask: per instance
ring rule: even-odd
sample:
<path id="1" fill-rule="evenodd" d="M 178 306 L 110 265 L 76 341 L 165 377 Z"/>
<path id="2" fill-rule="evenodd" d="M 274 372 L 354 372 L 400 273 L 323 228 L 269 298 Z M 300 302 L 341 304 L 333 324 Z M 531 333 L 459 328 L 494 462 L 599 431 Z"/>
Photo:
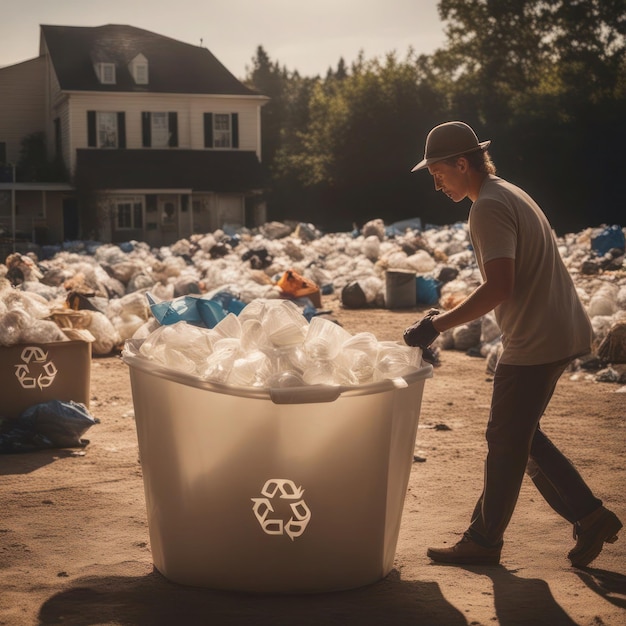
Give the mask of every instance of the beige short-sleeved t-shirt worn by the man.
<path id="1" fill-rule="evenodd" d="M 495 309 L 502 332 L 500 362 L 539 365 L 589 352 L 589 317 L 537 203 L 519 187 L 489 176 L 468 225 L 483 279 L 488 261 L 515 259 L 513 294 Z"/>

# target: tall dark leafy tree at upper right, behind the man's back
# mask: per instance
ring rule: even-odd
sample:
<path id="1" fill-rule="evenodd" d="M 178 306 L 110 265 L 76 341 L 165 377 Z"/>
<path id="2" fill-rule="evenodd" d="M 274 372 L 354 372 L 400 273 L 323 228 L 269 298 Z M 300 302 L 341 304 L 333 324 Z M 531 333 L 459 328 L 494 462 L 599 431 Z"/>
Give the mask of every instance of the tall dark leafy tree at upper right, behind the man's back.
<path id="1" fill-rule="evenodd" d="M 455 116 L 497 140 L 500 169 L 533 181 L 561 229 L 616 219 L 624 0 L 442 0 L 439 12 L 448 45 L 431 67 Z"/>

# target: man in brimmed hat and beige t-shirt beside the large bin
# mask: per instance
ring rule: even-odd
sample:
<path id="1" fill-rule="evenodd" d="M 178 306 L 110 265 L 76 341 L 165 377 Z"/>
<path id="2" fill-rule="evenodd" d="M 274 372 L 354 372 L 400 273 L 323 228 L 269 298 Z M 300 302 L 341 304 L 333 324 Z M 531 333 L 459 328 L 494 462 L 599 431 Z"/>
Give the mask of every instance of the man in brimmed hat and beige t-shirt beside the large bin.
<path id="1" fill-rule="evenodd" d="M 588 353 L 592 330 L 563 264 L 550 224 L 522 189 L 497 177 L 487 147 L 463 122 L 433 128 L 424 159 L 435 189 L 452 201 L 472 201 L 469 233 L 483 282 L 446 312 L 430 311 L 404 331 L 410 346 L 427 348 L 450 328 L 494 310 L 503 351 L 487 424 L 483 492 L 463 538 L 429 548 L 440 563 L 497 565 L 504 531 L 527 471 L 552 508 L 574 525 L 568 558 L 585 567 L 605 542 L 617 540 L 617 516 L 602 506 L 570 461 L 543 433 L 539 420 L 572 359 Z"/>

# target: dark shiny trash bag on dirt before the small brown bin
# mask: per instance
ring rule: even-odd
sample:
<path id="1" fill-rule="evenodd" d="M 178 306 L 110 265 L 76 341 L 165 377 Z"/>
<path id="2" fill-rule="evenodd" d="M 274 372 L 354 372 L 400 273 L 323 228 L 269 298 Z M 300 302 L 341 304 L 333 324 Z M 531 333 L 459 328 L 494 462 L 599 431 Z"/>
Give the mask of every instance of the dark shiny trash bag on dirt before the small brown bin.
<path id="1" fill-rule="evenodd" d="M 49 400 L 23 411 L 9 420 L 0 432 L 0 453 L 32 452 L 49 448 L 84 448 L 81 437 L 100 420 L 78 402 Z"/>

